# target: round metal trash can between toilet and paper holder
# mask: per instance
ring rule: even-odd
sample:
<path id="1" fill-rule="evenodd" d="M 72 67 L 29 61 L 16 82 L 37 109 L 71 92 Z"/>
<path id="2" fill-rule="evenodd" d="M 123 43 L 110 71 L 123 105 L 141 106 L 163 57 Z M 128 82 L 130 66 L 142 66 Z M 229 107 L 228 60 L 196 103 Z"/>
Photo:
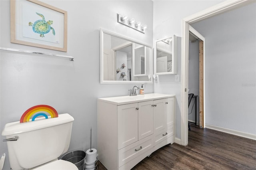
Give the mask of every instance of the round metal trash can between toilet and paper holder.
<path id="1" fill-rule="evenodd" d="M 61 159 L 72 162 L 78 170 L 84 170 L 85 155 L 86 153 L 82 150 L 74 150 L 64 154 Z"/>

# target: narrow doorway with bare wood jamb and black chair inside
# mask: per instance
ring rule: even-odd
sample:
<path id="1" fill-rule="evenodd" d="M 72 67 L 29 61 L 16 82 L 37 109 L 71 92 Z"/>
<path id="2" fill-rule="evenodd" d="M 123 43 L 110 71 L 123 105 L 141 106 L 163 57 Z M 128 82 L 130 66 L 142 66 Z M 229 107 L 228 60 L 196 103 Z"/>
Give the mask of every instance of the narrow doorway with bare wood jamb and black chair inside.
<path id="1" fill-rule="evenodd" d="M 205 127 L 205 112 L 204 112 L 204 57 L 205 57 L 205 38 L 197 32 L 192 26 L 189 26 L 189 40 L 190 46 L 195 43 L 197 49 L 192 49 L 189 47 L 189 54 L 191 55 L 188 59 L 188 93 L 194 94 L 194 99 L 192 101 L 192 107 L 190 106 L 188 112 L 188 120 L 190 123 L 198 124 L 200 128 Z M 195 51 L 194 51 L 195 50 Z M 192 59 L 193 55 L 194 59 Z M 191 68 L 192 67 L 192 68 Z M 191 87 L 191 88 L 190 88 Z M 199 102 L 197 102 L 199 101 Z M 197 103 L 199 104 L 199 109 L 197 109 Z M 193 111 L 194 109 L 194 111 Z M 191 110 L 191 111 L 190 111 Z M 197 111 L 198 110 L 198 111 Z M 194 112 L 194 114 L 192 113 Z M 198 113 L 198 116 L 197 116 Z M 191 114 L 194 115 L 191 117 Z M 194 119 L 193 119 L 194 118 Z M 192 119 L 192 121 L 191 121 Z M 194 122 L 193 122 L 194 121 Z M 197 123 L 198 121 L 198 123 Z"/>

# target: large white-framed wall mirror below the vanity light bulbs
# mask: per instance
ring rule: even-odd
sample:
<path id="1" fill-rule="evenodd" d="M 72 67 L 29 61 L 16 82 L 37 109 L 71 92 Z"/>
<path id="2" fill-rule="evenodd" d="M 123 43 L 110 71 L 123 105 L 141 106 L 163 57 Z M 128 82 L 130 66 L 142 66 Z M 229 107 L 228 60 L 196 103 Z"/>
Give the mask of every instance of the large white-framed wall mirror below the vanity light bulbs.
<path id="1" fill-rule="evenodd" d="M 152 83 L 152 48 L 100 30 L 100 83 Z"/>

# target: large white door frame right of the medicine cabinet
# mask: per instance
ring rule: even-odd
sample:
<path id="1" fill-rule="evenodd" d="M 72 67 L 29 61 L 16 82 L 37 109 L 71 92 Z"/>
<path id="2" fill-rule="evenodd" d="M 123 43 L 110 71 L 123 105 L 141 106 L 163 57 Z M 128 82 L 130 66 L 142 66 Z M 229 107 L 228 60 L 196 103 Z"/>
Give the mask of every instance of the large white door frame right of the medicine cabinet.
<path id="1" fill-rule="evenodd" d="M 188 145 L 188 43 L 189 26 L 216 14 L 249 4 L 250 0 L 227 0 L 182 19 L 180 144 Z M 204 91 L 205 93 L 205 91 Z M 205 98 L 205 97 L 204 97 Z M 205 107 L 204 107 L 205 109 Z M 205 112 L 204 112 L 205 114 Z M 204 121 L 205 122 L 205 121 Z"/>

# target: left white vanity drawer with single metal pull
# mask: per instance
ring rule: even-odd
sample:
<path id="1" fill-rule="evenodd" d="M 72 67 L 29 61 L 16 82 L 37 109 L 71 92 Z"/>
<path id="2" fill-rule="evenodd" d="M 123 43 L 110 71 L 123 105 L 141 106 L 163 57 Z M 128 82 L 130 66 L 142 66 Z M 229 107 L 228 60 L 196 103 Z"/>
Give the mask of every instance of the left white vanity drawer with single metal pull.
<path id="1" fill-rule="evenodd" d="M 150 135 L 142 140 L 139 140 L 138 142 L 118 150 L 118 167 L 153 148 L 153 142 L 153 135 Z"/>

